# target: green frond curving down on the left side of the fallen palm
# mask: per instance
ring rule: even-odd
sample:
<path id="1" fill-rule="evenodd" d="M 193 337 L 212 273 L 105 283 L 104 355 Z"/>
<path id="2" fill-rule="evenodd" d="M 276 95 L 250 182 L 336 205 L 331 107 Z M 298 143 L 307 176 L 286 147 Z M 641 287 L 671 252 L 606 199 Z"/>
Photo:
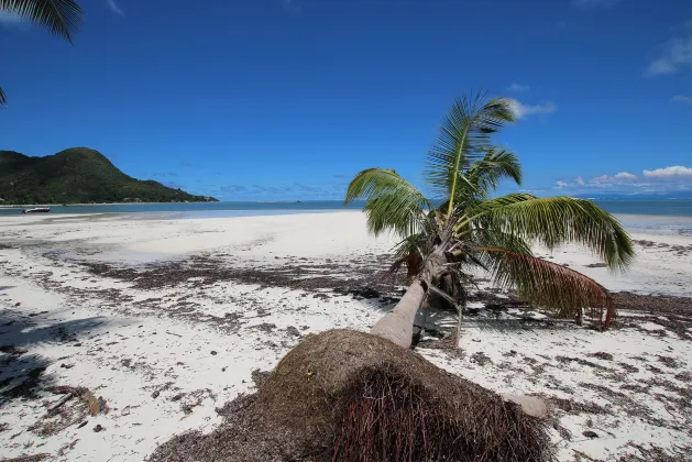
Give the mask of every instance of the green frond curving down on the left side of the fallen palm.
<path id="1" fill-rule="evenodd" d="M 358 199 L 365 199 L 367 228 L 375 235 L 389 230 L 404 238 L 414 234 L 432 209 L 415 186 L 386 168 L 369 168 L 351 180 L 343 202 Z"/>

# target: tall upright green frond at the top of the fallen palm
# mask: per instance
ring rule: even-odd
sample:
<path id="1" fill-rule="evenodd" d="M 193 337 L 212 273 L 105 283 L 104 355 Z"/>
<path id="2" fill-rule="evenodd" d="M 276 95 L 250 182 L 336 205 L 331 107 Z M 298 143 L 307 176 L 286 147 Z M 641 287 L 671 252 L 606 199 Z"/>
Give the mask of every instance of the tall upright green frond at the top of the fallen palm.
<path id="1" fill-rule="evenodd" d="M 483 158 L 491 135 L 515 120 L 512 107 L 512 100 L 487 100 L 484 92 L 464 96 L 452 105 L 428 154 L 426 180 L 437 194 L 453 199 L 459 180 L 464 180 L 459 173 Z"/>

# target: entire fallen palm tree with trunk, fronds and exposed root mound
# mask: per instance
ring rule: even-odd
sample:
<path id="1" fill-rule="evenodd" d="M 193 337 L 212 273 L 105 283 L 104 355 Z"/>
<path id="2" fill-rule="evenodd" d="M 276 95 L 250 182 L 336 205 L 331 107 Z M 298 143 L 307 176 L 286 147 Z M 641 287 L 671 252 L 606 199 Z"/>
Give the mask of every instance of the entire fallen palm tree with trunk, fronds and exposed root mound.
<path id="1" fill-rule="evenodd" d="M 256 394 L 223 411 L 219 429 L 176 437 L 150 461 L 550 460 L 543 421 L 535 417 L 547 410 L 542 400 L 501 397 L 408 349 L 416 312 L 429 294 L 463 305 L 470 265 L 558 314 L 591 309 L 605 328 L 613 319 L 605 288 L 535 257 L 529 246 L 578 242 L 609 267 L 624 267 L 631 243 L 613 217 L 565 197 L 488 199 L 499 179 L 520 180 L 516 156 L 490 143 L 513 119 L 506 99 L 486 102 L 479 96 L 452 107 L 427 175 L 446 195 L 440 207 L 394 170 L 356 175 L 347 202 L 364 198 L 370 230 L 403 237 L 398 263 L 407 264 L 410 284 L 404 297 L 370 333 L 331 330 L 307 338 Z"/>

